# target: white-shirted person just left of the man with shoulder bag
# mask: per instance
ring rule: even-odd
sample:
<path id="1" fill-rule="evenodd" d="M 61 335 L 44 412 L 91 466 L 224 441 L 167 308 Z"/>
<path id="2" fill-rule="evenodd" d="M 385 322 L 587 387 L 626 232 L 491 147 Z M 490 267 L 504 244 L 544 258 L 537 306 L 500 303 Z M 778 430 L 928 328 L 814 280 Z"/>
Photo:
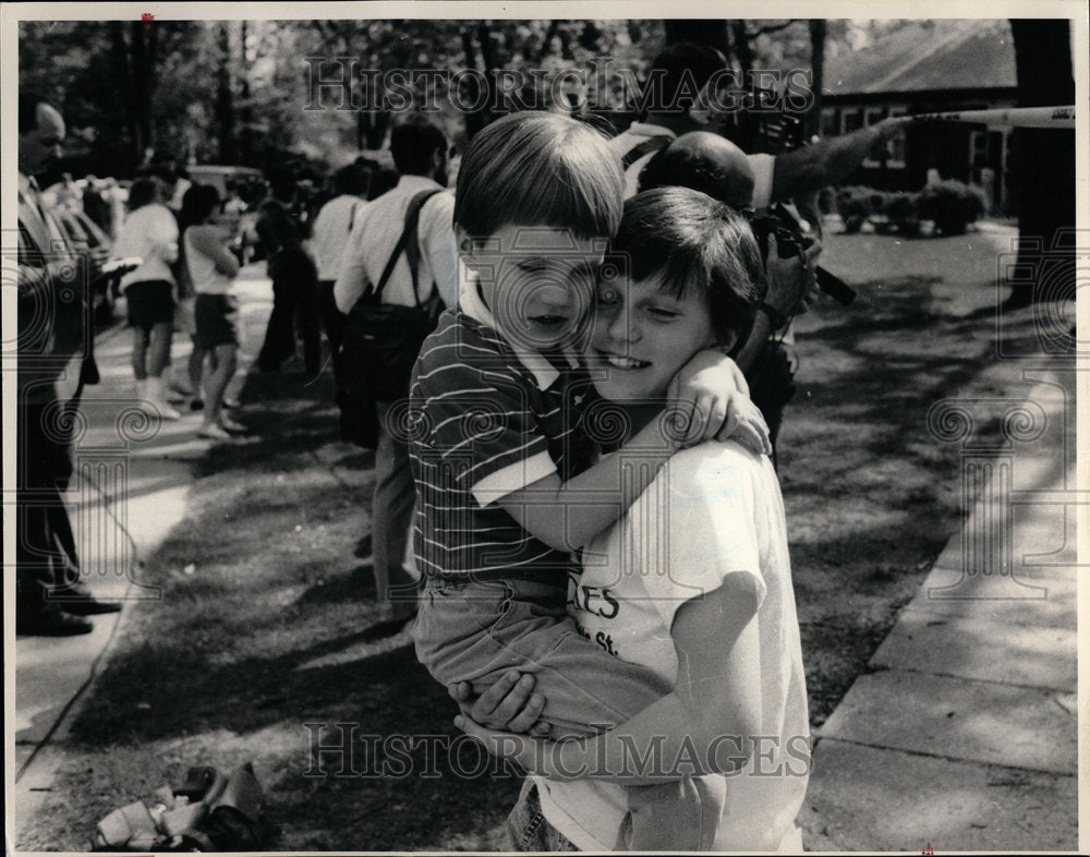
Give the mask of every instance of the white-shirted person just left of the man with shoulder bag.
<path id="1" fill-rule="evenodd" d="M 334 379 L 341 381 L 340 347 L 344 338 L 344 316 L 334 300 L 334 283 L 340 275 L 344 245 L 355 226 L 355 218 L 367 204 L 371 170 L 360 164 L 349 164 L 337 172 L 337 196 L 322 206 L 314 219 L 311 252 L 318 267 L 318 312 L 332 353 Z"/>

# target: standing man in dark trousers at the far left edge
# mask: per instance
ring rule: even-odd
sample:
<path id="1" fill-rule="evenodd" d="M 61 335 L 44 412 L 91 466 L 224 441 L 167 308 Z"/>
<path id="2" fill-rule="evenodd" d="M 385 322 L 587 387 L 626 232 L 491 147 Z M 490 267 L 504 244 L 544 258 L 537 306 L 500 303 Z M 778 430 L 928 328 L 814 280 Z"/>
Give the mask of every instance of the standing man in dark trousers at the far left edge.
<path id="1" fill-rule="evenodd" d="M 62 497 L 83 385 L 98 382 L 89 312 L 96 271 L 66 242 L 34 178 L 59 157 L 63 138 L 61 114 L 21 94 L 15 629 L 46 636 L 87 633 L 86 616 L 121 609 L 81 582 Z"/>

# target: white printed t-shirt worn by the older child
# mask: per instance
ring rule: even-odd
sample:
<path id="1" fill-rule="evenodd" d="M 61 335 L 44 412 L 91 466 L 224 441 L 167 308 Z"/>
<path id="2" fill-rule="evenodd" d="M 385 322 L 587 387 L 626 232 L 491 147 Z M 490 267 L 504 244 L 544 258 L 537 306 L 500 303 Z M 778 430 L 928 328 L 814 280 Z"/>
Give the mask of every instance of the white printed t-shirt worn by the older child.
<path id="1" fill-rule="evenodd" d="M 675 614 L 732 572 L 751 575 L 759 596 L 761 686 L 753 693 L 762 700 L 761 737 L 746 770 L 725 777 L 714 849 L 801 850 L 795 819 L 809 782 L 810 722 L 784 504 L 772 462 L 735 443 L 705 443 L 675 455 L 628 514 L 584 548 L 568 612 L 607 652 L 673 683 Z M 710 638 L 715 633 L 707 629 Z M 541 777 L 537 785 L 545 818 L 579 848 L 614 847 L 627 811 L 623 786 Z"/>

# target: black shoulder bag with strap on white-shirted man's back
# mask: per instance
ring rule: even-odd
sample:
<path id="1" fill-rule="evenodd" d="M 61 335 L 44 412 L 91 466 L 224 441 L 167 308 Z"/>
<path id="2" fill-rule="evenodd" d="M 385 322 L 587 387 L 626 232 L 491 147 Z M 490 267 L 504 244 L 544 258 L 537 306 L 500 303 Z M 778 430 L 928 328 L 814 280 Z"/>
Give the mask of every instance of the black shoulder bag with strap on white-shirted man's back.
<path id="1" fill-rule="evenodd" d="M 346 398 L 371 397 L 390 402 L 409 395 L 412 367 L 421 346 L 435 329 L 443 311 L 437 290 L 421 301 L 417 289 L 420 241 L 416 225 L 420 212 L 439 190 L 421 191 L 409 202 L 404 230 L 390 255 L 377 287 L 371 283 L 348 314 L 341 346 Z M 412 271 L 414 306 L 383 303 L 383 290 L 404 253 Z"/>

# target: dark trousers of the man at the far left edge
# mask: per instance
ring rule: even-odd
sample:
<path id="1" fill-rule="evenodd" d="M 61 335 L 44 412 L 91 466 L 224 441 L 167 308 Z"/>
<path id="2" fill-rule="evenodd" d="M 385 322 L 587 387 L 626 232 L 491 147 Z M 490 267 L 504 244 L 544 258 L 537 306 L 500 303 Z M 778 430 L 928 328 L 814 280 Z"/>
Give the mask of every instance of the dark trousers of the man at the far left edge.
<path id="1" fill-rule="evenodd" d="M 80 557 L 63 493 L 72 475 L 72 412 L 55 402 L 19 406 L 15 504 L 15 606 L 27 616 L 80 583 Z"/>

